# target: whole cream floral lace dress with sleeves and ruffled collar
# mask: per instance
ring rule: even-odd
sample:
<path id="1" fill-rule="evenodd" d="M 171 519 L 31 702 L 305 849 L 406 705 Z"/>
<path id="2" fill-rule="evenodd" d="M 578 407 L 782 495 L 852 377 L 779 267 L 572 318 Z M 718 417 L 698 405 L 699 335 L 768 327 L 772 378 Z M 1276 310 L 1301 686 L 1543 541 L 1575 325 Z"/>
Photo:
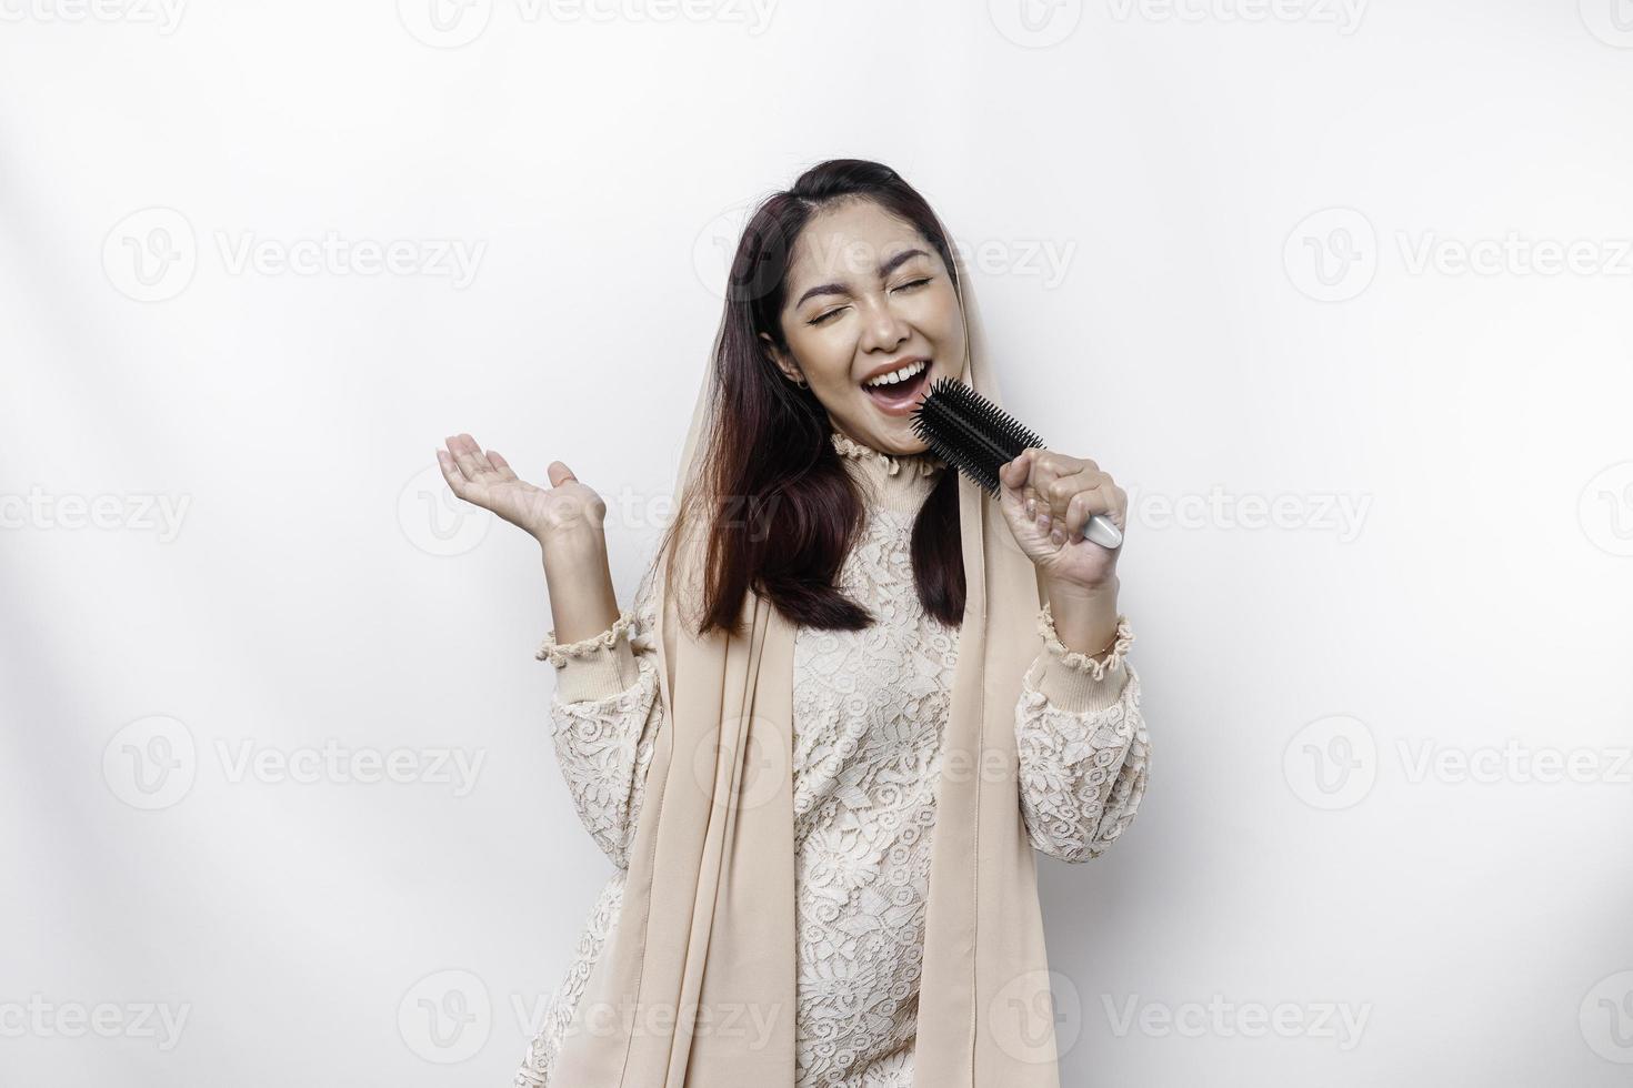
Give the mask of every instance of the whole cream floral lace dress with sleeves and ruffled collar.
<path id="1" fill-rule="evenodd" d="M 870 496 L 839 586 L 879 618 L 865 631 L 800 628 L 794 651 L 797 1088 L 910 1088 L 924 949 L 941 731 L 959 630 L 924 613 L 913 586 L 913 519 L 937 473 L 833 436 Z M 516 1073 L 545 1088 L 585 982 L 617 925 L 652 745 L 663 729 L 650 586 L 594 638 L 539 657 L 558 669 L 555 752 L 573 804 L 614 873 Z M 1104 661 L 1066 652 L 1045 607 L 1039 656 L 1016 703 L 1021 809 L 1032 845 L 1061 861 L 1099 856 L 1133 820 L 1150 741 L 1133 635 L 1119 617 Z M 599 1088 L 573 1085 L 557 1088 Z M 774 1088 L 768 1085 L 768 1088 Z"/>

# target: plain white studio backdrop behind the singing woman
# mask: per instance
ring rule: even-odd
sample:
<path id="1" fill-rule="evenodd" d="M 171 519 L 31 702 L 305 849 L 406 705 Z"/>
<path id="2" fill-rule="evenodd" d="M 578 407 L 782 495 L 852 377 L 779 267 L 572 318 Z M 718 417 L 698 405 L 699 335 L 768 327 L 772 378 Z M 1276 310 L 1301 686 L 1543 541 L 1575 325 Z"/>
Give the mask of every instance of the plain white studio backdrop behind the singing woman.
<path id="1" fill-rule="evenodd" d="M 1027 2 L 0 0 L 0 1083 L 509 1083 L 609 868 L 433 450 L 565 460 L 627 602 L 828 157 L 1133 498 L 1063 1083 L 1626 1083 L 1633 7 Z"/>

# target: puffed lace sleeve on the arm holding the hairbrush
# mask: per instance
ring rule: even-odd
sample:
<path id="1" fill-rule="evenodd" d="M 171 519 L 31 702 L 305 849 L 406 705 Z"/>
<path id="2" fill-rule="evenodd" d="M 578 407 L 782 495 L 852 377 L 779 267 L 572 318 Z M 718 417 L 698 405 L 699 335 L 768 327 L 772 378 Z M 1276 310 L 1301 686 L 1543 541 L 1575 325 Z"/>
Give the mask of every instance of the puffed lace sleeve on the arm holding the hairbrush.
<path id="1" fill-rule="evenodd" d="M 1043 651 L 1016 703 L 1021 814 L 1034 848 L 1088 861 L 1128 829 L 1145 796 L 1151 742 L 1140 677 L 1127 661 L 1133 631 L 1117 617 L 1104 661 L 1068 652 L 1047 605 L 1039 631 Z"/>

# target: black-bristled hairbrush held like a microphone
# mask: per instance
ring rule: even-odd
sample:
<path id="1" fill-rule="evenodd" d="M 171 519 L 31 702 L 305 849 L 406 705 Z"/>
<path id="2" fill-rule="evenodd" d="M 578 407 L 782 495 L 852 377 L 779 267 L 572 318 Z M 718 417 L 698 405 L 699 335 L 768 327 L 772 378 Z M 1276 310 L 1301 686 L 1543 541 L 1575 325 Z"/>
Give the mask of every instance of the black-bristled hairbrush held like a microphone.
<path id="1" fill-rule="evenodd" d="M 913 429 L 931 452 L 957 467 L 990 494 L 999 494 L 998 470 L 1027 447 L 1043 447 L 1037 432 L 986 400 L 968 385 L 941 377 L 913 409 Z M 1122 546 L 1122 530 L 1104 514 L 1094 514 L 1083 537 L 1102 548 Z"/>

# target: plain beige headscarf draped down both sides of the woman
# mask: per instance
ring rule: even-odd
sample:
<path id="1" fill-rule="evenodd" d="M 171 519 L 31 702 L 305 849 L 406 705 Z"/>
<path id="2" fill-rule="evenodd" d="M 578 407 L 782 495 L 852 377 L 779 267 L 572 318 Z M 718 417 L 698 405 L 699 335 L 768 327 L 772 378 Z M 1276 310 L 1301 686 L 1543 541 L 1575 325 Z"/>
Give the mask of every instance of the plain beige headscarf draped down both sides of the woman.
<path id="1" fill-rule="evenodd" d="M 959 282 L 963 380 L 1001 405 L 962 259 Z M 676 502 L 717 401 L 710 380 L 692 411 Z M 1058 1088 L 1014 736 L 1043 599 L 996 501 L 962 475 L 959 525 L 967 599 L 932 829 L 913 1081 Z M 647 775 L 621 917 L 567 1028 L 552 1083 L 794 1088 L 797 628 L 751 590 L 738 638 L 696 638 L 681 615 L 697 613 L 701 535 L 676 548 L 684 586 L 666 586 L 661 571 L 658 581 L 668 719 Z"/>

